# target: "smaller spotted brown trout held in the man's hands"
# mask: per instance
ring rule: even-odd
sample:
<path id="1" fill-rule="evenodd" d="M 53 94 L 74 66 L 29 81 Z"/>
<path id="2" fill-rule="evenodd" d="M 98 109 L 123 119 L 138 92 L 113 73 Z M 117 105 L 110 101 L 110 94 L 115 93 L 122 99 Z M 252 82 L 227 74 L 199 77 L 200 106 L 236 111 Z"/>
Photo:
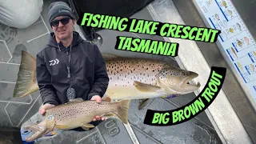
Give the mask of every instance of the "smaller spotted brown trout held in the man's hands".
<path id="1" fill-rule="evenodd" d="M 32 131 L 33 135 L 30 138 L 26 138 L 26 142 L 33 142 L 35 139 L 42 138 L 54 130 L 72 130 L 78 127 L 82 127 L 84 130 L 94 128 L 94 125 L 90 124 L 90 122 L 97 115 L 114 115 L 127 124 L 129 107 L 129 99 L 118 102 L 102 101 L 97 103 L 95 101 L 83 101 L 78 98 L 73 102 L 46 110 L 46 114 L 37 119 L 38 123 L 29 125 L 28 123 L 30 122 L 27 122 L 22 125 L 22 130 Z"/>

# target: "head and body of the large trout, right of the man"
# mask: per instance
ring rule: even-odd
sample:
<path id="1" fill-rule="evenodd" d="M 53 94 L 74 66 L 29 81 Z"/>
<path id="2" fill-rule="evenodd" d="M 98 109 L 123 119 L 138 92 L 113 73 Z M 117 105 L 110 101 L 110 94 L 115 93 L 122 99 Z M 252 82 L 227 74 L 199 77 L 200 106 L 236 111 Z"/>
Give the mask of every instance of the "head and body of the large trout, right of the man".
<path id="1" fill-rule="evenodd" d="M 152 98 L 188 94 L 200 86 L 200 83 L 188 83 L 198 74 L 166 62 L 117 56 L 107 60 L 106 66 L 110 77 L 106 96 L 111 99 L 147 99 L 139 109 L 148 106 Z"/>

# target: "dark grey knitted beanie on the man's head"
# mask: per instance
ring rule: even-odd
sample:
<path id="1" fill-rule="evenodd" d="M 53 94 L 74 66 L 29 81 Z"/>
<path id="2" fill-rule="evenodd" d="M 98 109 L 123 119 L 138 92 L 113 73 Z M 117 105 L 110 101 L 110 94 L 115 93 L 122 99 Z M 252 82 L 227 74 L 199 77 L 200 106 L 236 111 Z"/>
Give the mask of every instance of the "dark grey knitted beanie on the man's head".
<path id="1" fill-rule="evenodd" d="M 48 12 L 49 22 L 58 16 L 68 16 L 75 19 L 70 6 L 68 6 L 66 2 L 53 2 L 50 4 Z"/>

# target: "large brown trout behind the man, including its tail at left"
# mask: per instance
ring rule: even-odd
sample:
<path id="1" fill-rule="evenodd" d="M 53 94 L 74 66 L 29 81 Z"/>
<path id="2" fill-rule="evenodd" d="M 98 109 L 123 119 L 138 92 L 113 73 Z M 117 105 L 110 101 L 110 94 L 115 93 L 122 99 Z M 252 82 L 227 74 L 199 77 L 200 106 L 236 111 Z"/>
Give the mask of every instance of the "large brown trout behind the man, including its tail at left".
<path id="1" fill-rule="evenodd" d="M 146 58 L 123 58 L 113 54 L 102 56 L 106 61 L 110 78 L 103 98 L 149 100 L 162 96 L 189 94 L 201 86 L 199 82 L 190 83 L 190 80 L 198 77 L 197 73 L 182 70 L 166 62 Z M 35 59 L 22 51 L 22 62 L 14 89 L 15 98 L 38 90 L 35 68 Z"/>

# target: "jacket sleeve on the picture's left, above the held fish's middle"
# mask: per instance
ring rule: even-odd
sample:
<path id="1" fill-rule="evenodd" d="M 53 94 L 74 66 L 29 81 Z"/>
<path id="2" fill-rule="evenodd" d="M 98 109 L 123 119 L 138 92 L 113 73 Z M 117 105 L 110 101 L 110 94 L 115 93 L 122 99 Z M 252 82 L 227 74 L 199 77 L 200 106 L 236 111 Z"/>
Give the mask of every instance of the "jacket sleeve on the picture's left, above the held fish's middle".
<path id="1" fill-rule="evenodd" d="M 47 70 L 46 63 L 41 54 L 37 55 L 36 59 L 36 75 L 42 103 L 50 103 L 58 105 L 58 98 L 54 91 L 54 86 L 51 85 L 50 72 Z"/>

